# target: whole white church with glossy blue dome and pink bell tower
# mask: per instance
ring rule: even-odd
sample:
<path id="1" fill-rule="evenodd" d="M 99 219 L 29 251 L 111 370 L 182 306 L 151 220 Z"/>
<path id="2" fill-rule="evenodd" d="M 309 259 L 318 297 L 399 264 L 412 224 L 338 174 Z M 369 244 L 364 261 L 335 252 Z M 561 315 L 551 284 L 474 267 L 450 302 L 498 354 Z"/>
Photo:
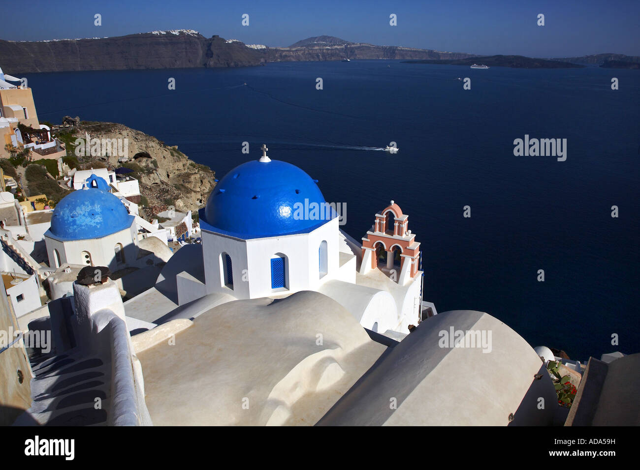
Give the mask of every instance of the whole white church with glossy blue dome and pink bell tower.
<path id="1" fill-rule="evenodd" d="M 267 150 L 221 178 L 198 212 L 202 244 L 174 253 L 154 288 L 125 302 L 127 315 L 167 322 L 235 300 L 314 291 L 372 331 L 408 333 L 422 311 L 408 215 L 392 202 L 358 242 L 340 230 L 344 205 L 325 201 L 317 180 Z M 387 262 L 379 263 L 383 253 Z"/>

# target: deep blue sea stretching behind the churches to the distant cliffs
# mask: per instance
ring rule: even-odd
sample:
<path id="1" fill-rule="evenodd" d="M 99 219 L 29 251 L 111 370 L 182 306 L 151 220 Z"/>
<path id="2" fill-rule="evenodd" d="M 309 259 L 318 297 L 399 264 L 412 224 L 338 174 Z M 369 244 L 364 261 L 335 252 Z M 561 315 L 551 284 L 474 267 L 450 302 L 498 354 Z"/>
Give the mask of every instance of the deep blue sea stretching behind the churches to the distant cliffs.
<path id="1" fill-rule="evenodd" d="M 581 361 L 640 352 L 638 70 L 352 61 L 26 77 L 41 121 L 124 123 L 219 178 L 266 143 L 319 180 L 327 201 L 346 203 L 356 239 L 395 200 L 438 311 L 486 311 Z M 566 161 L 515 157 L 525 134 L 567 139 Z M 391 141 L 399 153 L 348 148 Z"/>

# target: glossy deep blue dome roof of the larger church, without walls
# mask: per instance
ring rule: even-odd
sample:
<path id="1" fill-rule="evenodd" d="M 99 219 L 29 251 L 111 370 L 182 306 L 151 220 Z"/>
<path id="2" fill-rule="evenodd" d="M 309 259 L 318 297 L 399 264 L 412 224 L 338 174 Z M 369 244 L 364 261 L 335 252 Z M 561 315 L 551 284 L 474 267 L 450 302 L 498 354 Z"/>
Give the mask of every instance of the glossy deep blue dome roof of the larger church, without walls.
<path id="1" fill-rule="evenodd" d="M 314 207 L 324 208 L 325 201 L 307 173 L 287 162 L 250 161 L 220 180 L 200 210 L 200 223 L 241 239 L 305 233 L 335 216 Z"/>

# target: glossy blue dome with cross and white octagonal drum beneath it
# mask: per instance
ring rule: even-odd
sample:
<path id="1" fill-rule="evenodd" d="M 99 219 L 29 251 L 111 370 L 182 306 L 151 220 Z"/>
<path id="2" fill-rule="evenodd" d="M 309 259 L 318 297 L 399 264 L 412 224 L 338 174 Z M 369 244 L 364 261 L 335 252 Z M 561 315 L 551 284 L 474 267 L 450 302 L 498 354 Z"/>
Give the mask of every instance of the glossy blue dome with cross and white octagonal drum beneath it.
<path id="1" fill-rule="evenodd" d="M 266 150 L 225 175 L 200 210 L 207 294 L 254 299 L 339 277 L 335 207 L 317 180 Z"/>

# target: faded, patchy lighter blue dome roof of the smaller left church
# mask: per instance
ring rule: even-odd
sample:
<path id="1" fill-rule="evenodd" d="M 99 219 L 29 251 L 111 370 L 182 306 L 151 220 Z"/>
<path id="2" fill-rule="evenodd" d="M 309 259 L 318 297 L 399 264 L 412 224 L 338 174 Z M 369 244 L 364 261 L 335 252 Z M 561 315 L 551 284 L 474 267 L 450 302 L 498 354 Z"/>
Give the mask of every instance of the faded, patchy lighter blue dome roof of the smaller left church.
<path id="1" fill-rule="evenodd" d="M 78 189 L 56 205 L 49 230 L 54 237 L 65 241 L 97 239 L 129 228 L 133 219 L 124 204 L 110 192 Z"/>

